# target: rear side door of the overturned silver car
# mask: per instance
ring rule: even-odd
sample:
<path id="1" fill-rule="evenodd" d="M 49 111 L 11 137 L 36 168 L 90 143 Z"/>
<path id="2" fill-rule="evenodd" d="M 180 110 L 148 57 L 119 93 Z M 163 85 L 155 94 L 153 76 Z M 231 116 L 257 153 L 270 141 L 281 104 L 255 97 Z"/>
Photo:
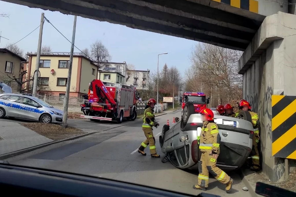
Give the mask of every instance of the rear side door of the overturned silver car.
<path id="1" fill-rule="evenodd" d="M 181 122 L 178 122 L 173 129 L 172 144 L 173 144 L 175 155 L 176 155 L 176 158 L 178 159 L 180 167 L 184 167 L 188 165 L 186 144 L 184 140 L 186 139 L 186 135 L 183 131 L 181 131 L 180 124 Z"/>

